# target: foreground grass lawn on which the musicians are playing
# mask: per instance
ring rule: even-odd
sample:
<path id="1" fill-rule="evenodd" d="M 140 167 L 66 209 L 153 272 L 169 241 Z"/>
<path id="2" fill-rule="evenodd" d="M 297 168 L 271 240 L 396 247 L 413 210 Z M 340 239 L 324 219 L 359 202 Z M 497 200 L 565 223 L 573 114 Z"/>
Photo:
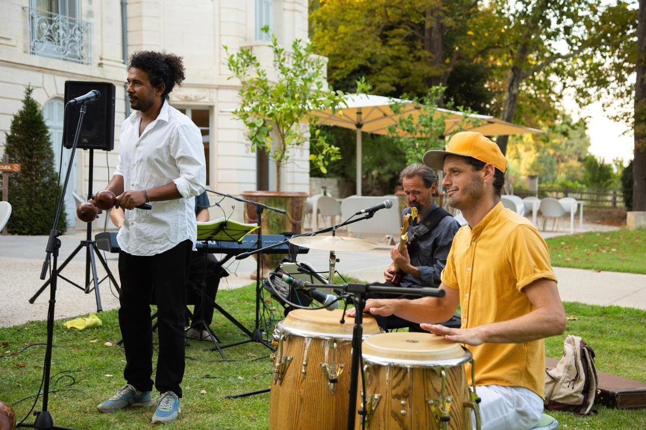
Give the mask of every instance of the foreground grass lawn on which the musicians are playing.
<path id="1" fill-rule="evenodd" d="M 218 303 L 251 327 L 255 292 L 252 286 L 234 291 L 218 292 Z M 621 307 L 601 307 L 565 303 L 568 316 L 567 333 L 578 334 L 596 352 L 599 370 L 646 381 L 646 312 Z M 101 414 L 96 405 L 114 394 L 124 384 L 123 351 L 108 347 L 107 340 L 120 337 L 116 311 L 102 312 L 103 326 L 87 331 L 68 331 L 63 321 L 57 321 L 54 333 L 52 385 L 61 390 L 50 394 L 49 411 L 54 424 L 78 429 L 140 429 L 150 424 L 152 408 L 134 408 L 112 414 Z M 280 314 L 276 311 L 276 318 Z M 237 329 L 220 316 L 214 315 L 212 325 L 224 342 L 242 338 Z M 548 356 L 561 355 L 564 336 L 547 340 Z M 96 342 L 93 342 L 96 340 Z M 31 322 L 15 327 L 0 328 L 0 399 L 13 404 L 36 394 L 45 347 L 34 346 L 16 354 L 27 343 L 45 342 L 45 322 Z M 203 351 L 208 344 L 191 340 L 186 349 L 187 365 L 182 384 L 182 413 L 178 422 L 167 425 L 178 429 L 266 429 L 269 422 L 269 394 L 239 399 L 225 399 L 225 394 L 241 393 L 269 387 L 271 363 L 269 350 L 257 343 L 225 350 L 229 362 L 221 362 L 216 352 Z M 71 378 L 74 378 L 72 384 Z M 74 390 L 74 391 L 63 391 Z M 205 393 L 202 393 L 205 391 Z M 21 419 L 30 409 L 33 399 L 14 405 Z M 39 400 L 37 407 L 42 402 Z M 643 429 L 646 409 L 611 410 L 597 406 L 598 415 L 578 418 L 570 413 L 553 413 L 566 429 Z M 286 420 L 293 417 L 286 416 Z M 30 416 L 27 422 L 32 422 Z M 567 425 L 567 427 L 566 427 Z"/>

